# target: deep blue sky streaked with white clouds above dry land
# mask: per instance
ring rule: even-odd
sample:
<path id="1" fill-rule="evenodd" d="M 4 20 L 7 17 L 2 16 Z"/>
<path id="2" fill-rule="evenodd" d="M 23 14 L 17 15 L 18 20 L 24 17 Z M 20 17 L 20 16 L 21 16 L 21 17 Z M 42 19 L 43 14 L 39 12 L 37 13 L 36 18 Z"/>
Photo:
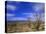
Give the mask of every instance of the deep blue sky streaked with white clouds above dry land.
<path id="1" fill-rule="evenodd" d="M 7 2 L 7 20 L 27 20 L 28 17 L 31 17 L 31 20 L 35 21 L 36 13 L 39 15 L 44 14 L 44 3 L 20 1 Z"/>

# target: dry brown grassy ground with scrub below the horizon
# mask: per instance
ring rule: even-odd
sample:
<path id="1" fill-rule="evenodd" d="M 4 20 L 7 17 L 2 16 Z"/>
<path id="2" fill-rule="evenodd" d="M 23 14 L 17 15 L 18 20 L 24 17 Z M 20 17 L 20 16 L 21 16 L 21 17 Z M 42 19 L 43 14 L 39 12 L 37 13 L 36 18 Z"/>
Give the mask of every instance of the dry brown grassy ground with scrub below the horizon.
<path id="1" fill-rule="evenodd" d="M 44 31 L 44 23 L 15 23 L 7 25 L 7 32 L 33 32 L 33 31 Z"/>

